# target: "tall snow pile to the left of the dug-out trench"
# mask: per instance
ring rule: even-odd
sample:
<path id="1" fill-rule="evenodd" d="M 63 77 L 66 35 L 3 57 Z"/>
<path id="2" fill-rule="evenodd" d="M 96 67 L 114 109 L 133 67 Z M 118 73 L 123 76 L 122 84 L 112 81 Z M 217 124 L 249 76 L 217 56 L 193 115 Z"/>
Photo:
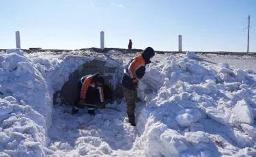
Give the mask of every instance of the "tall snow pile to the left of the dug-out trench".
<path id="1" fill-rule="evenodd" d="M 46 156 L 53 92 L 23 51 L 1 54 L 0 94 L 1 155 Z"/>

